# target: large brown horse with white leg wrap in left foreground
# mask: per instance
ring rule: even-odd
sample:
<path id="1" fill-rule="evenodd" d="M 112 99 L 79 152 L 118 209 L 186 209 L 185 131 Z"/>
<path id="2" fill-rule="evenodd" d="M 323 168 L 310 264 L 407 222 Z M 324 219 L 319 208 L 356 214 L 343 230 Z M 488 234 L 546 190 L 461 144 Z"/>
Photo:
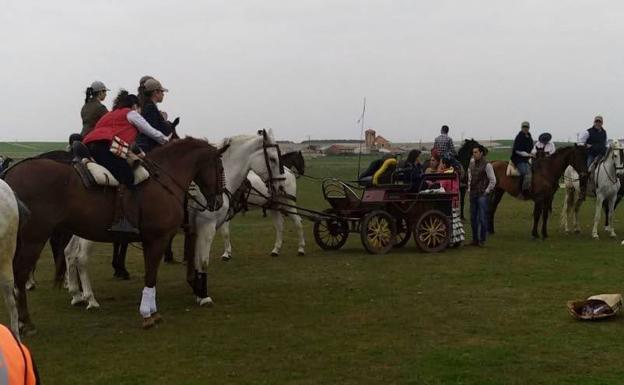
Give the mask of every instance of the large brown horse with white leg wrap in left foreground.
<path id="1" fill-rule="evenodd" d="M 124 197 L 126 216 L 140 229 L 143 243 L 145 288 L 140 312 L 144 327 L 160 320 L 155 288 L 158 265 L 169 239 L 184 220 L 183 202 L 191 181 L 207 197 L 208 209 L 221 204 L 224 150 L 193 138 L 157 148 L 147 157 L 153 170 L 151 178 Z M 22 248 L 13 262 L 19 317 L 23 332 L 28 333 L 34 331 L 34 325 L 28 314 L 25 284 L 46 241 L 55 229 L 62 228 L 81 238 L 113 242 L 115 236 L 107 228 L 113 221 L 116 190 L 87 189 L 71 165 L 49 159 L 33 158 L 15 165 L 5 180 L 31 210 Z"/>

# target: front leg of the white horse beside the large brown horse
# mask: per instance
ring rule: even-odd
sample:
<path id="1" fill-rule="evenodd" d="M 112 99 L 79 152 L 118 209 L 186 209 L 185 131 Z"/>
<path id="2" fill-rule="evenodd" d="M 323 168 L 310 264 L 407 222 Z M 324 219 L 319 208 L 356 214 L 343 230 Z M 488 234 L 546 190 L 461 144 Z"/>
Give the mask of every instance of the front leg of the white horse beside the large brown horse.
<path id="1" fill-rule="evenodd" d="M 199 306 L 212 305 L 212 298 L 208 296 L 208 264 L 210 263 L 210 248 L 217 234 L 216 221 L 211 220 L 197 228 L 197 245 L 195 247 L 195 296 Z"/>

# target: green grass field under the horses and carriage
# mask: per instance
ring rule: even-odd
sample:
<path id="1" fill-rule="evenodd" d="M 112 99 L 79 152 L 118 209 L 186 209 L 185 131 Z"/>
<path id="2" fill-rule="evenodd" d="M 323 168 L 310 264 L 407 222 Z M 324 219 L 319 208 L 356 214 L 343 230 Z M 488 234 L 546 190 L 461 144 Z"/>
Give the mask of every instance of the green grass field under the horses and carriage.
<path id="1" fill-rule="evenodd" d="M 351 179 L 355 162 L 310 160 L 307 172 Z M 318 184 L 299 183 L 300 205 L 326 207 Z M 96 248 L 90 272 L 101 308 L 86 311 L 53 288 L 46 248 L 29 294 L 39 333 L 26 343 L 45 384 L 621 384 L 622 319 L 581 323 L 565 303 L 621 292 L 624 248 L 606 235 L 590 239 L 591 200 L 582 234 L 558 231 L 561 198 L 547 241 L 530 239 L 532 206 L 505 197 L 485 248 L 440 254 L 410 242 L 371 256 L 355 235 L 323 252 L 306 223 L 307 254 L 297 257 L 287 222 L 274 258 L 270 220 L 250 212 L 233 222 L 232 261 L 221 262 L 221 240 L 214 244 L 214 307 L 195 305 L 183 265 L 161 266 L 165 322 L 148 331 L 138 250 L 122 282 L 112 279 L 111 247 Z M 181 246 L 178 237 L 178 257 Z"/>

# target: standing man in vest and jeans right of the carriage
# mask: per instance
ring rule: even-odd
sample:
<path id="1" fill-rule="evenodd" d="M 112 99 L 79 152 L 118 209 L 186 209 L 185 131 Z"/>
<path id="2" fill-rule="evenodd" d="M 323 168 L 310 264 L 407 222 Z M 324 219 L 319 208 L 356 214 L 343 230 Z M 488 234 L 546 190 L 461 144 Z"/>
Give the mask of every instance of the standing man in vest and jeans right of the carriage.
<path id="1" fill-rule="evenodd" d="M 496 186 L 496 175 L 490 162 L 485 159 L 485 147 L 472 149 L 468 166 L 468 194 L 470 196 L 470 224 L 472 246 L 483 246 L 487 234 L 488 195 Z"/>

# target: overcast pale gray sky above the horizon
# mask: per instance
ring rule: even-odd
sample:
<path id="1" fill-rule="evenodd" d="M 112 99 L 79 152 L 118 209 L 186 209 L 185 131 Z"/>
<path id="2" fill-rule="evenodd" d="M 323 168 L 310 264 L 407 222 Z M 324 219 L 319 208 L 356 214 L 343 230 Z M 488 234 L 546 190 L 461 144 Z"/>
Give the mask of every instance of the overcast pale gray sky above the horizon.
<path id="1" fill-rule="evenodd" d="M 217 140 L 624 136 L 624 2 L 0 0 L 0 140 L 65 140 L 84 88 L 170 89 L 180 132 Z"/>

